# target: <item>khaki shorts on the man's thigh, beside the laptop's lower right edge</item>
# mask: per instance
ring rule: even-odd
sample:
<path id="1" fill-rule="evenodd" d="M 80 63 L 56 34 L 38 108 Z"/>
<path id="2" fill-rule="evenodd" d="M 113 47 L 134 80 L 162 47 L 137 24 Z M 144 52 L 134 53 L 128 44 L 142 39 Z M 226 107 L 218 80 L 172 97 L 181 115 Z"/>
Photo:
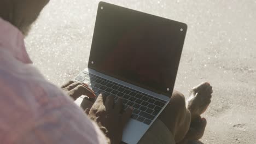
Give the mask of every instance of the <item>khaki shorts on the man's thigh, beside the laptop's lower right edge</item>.
<path id="1" fill-rule="evenodd" d="M 144 134 L 138 144 L 175 144 L 172 134 L 162 121 L 156 119 L 155 122 Z"/>

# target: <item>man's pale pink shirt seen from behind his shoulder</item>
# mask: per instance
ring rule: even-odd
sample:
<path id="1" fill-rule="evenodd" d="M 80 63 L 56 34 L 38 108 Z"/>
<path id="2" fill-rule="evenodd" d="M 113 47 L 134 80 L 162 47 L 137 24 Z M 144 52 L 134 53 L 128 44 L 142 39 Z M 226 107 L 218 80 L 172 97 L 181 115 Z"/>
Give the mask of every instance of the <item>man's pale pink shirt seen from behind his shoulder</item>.
<path id="1" fill-rule="evenodd" d="M 0 143 L 106 143 L 97 125 L 33 67 L 24 36 L 1 18 Z"/>

